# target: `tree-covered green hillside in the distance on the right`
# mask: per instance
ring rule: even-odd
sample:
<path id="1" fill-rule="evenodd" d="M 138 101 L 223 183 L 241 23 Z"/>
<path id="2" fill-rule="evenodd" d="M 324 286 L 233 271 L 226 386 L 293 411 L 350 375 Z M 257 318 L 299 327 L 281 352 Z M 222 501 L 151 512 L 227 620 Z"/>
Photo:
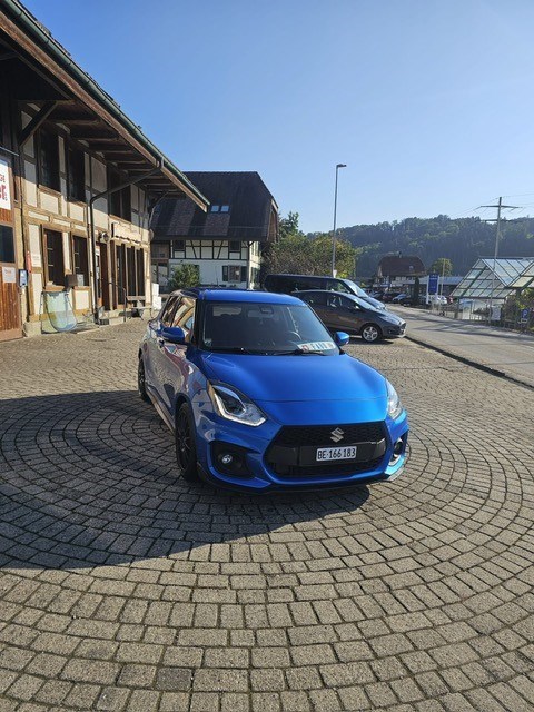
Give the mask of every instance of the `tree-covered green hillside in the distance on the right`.
<path id="1" fill-rule="evenodd" d="M 534 258 L 534 218 L 503 220 L 501 227 L 498 253 L 502 257 Z M 357 248 L 358 278 L 373 276 L 380 258 L 389 253 L 416 255 L 427 268 L 435 259 L 448 257 L 453 274 L 465 275 L 478 257 L 493 256 L 495 224 L 476 217 L 452 219 L 438 215 L 428 219 L 354 225 L 342 228 L 339 237 Z"/>

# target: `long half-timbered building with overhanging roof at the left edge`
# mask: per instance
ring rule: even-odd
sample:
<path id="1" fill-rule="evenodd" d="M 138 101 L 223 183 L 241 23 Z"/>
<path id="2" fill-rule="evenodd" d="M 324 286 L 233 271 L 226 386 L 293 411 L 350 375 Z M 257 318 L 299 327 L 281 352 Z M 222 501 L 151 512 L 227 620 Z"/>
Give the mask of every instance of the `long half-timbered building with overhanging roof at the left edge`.
<path id="1" fill-rule="evenodd" d="M 208 207 L 18 0 L 0 0 L 0 339 L 40 333 L 44 293 L 68 289 L 100 323 L 149 305 L 162 196 Z"/>

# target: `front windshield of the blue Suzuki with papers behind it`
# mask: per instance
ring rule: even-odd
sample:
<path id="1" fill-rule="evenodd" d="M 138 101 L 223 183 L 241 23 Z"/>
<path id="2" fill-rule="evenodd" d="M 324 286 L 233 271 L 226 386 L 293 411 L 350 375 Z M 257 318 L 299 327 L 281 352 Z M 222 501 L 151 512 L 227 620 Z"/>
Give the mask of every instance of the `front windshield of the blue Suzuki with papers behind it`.
<path id="1" fill-rule="evenodd" d="M 339 353 L 307 305 L 207 301 L 200 348 L 234 354 Z"/>

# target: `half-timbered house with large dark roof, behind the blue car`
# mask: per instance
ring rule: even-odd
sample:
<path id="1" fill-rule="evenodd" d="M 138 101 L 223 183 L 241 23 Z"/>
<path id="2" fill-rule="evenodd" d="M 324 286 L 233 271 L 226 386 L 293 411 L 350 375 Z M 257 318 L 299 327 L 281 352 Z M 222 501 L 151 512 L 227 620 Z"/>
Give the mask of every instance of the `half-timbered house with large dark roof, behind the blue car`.
<path id="1" fill-rule="evenodd" d="M 210 205 L 166 198 L 154 210 L 152 281 L 196 265 L 201 285 L 259 287 L 263 249 L 278 236 L 278 206 L 255 171 L 187 171 Z"/>

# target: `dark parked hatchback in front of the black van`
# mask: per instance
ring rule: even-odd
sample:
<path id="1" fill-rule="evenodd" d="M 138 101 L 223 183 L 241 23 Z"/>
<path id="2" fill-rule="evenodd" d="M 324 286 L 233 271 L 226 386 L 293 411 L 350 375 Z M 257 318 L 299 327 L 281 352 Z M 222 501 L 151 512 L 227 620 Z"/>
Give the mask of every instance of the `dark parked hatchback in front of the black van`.
<path id="1" fill-rule="evenodd" d="M 404 336 L 406 333 L 406 322 L 399 316 L 374 309 L 354 295 L 313 290 L 297 291 L 295 296 L 309 304 L 330 332 L 343 329 L 369 343 Z"/>

